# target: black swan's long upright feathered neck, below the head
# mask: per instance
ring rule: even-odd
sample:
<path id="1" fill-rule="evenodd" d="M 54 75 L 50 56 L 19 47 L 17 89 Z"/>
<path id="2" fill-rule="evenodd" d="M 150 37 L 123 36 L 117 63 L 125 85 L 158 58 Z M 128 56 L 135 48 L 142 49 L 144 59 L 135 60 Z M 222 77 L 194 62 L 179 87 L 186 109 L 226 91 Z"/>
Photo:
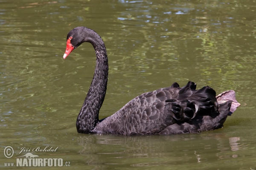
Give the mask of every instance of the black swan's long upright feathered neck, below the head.
<path id="1" fill-rule="evenodd" d="M 101 38 L 100 38 L 101 40 Z M 91 42 L 96 53 L 96 68 L 93 81 L 77 117 L 79 133 L 90 133 L 99 122 L 99 110 L 105 98 L 108 82 L 108 56 L 104 42 Z"/>

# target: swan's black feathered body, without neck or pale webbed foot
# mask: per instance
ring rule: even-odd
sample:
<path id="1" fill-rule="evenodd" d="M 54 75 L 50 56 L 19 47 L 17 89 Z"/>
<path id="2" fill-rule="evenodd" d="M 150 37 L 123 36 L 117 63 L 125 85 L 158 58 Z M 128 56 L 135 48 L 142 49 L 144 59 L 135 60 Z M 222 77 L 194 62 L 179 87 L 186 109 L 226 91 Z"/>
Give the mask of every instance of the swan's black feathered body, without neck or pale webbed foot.
<path id="1" fill-rule="evenodd" d="M 92 132 L 123 135 L 161 132 L 173 134 L 221 127 L 223 122 L 218 126 L 211 126 L 211 121 L 214 122 L 217 116 L 222 115 L 218 111 L 220 105 L 215 98 L 215 91 L 208 86 L 198 91 L 195 88 L 194 82 L 188 82 L 183 88 L 175 82 L 168 88 L 141 94 L 112 116 L 100 121 Z M 222 104 L 224 117 L 227 117 L 231 103 Z M 202 123 L 204 119 L 209 119 L 205 125 Z"/>

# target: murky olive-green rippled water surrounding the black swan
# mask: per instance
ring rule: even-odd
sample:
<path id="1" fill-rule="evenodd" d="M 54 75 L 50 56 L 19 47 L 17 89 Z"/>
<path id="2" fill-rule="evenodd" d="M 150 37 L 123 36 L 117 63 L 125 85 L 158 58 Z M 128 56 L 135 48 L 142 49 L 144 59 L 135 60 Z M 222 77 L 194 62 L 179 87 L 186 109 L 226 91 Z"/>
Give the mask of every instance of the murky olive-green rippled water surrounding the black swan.
<path id="1" fill-rule="evenodd" d="M 22 147 L 49 146 L 58 149 L 30 153 L 70 165 L 52 169 L 255 170 L 255 12 L 243 0 L 0 0 L 0 167 L 23 168 Z M 100 119 L 139 94 L 189 80 L 233 89 L 241 106 L 223 128 L 199 134 L 78 134 L 96 59 L 88 43 L 62 58 L 77 26 L 95 30 L 108 51 Z"/>

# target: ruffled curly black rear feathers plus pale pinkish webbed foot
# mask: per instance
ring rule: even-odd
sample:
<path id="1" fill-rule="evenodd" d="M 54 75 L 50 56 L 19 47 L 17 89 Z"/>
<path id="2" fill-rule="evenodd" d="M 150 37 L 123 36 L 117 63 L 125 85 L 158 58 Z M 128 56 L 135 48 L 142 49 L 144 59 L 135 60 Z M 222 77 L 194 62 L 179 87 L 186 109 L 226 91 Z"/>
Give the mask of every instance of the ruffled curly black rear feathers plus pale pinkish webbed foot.
<path id="1" fill-rule="evenodd" d="M 196 84 L 190 81 L 182 88 L 176 82 L 171 87 L 179 89 L 179 94 L 174 99 L 167 99 L 166 102 L 171 105 L 169 111 L 173 113 L 172 117 L 178 121 L 193 119 L 198 113 L 204 111 L 218 112 L 219 105 L 228 101 L 232 101 L 229 116 L 240 106 L 240 103 L 236 101 L 236 93 L 233 90 L 224 91 L 216 96 L 216 92 L 209 86 L 195 90 Z"/>

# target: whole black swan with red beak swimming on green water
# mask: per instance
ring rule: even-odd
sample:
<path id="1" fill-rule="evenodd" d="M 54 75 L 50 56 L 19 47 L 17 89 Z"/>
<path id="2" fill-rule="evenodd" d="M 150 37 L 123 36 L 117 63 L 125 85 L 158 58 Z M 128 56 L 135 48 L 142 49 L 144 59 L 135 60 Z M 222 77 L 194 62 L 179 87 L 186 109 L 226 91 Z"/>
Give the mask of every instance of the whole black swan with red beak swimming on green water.
<path id="1" fill-rule="evenodd" d="M 78 133 L 114 133 L 122 135 L 197 133 L 223 126 L 239 102 L 234 91 L 218 96 L 209 86 L 195 90 L 188 82 L 141 94 L 113 115 L 99 120 L 108 82 L 108 57 L 102 38 L 90 28 L 77 27 L 67 34 L 65 59 L 83 42 L 90 42 L 96 53 L 93 81 L 77 117 Z"/>

